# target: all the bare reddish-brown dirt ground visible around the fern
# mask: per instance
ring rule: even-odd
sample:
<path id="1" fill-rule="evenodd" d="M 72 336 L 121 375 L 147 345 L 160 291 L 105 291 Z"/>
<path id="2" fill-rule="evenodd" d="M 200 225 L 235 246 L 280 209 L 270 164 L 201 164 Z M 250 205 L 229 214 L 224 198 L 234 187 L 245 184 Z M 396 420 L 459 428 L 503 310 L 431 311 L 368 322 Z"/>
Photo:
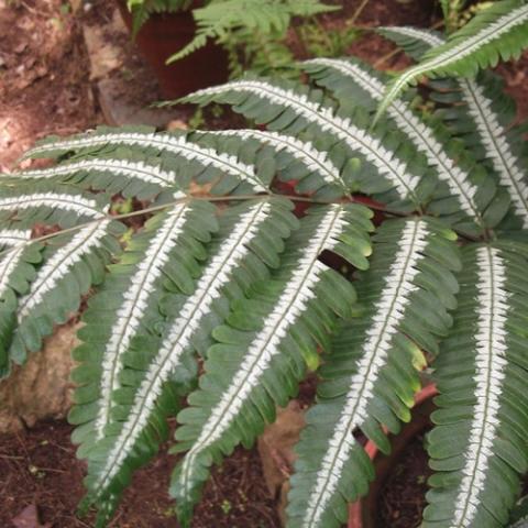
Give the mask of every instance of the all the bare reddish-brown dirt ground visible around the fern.
<path id="1" fill-rule="evenodd" d="M 324 16 L 323 23 L 329 28 L 339 26 L 352 16 L 361 2 L 343 3 L 343 12 Z M 95 0 L 86 4 L 91 10 L 85 11 L 79 0 L 70 0 L 77 10 L 64 8 L 69 4 L 62 0 L 0 0 L 0 170 L 9 168 L 40 138 L 52 133 L 67 135 L 102 122 L 89 79 L 81 23 L 97 24 L 101 16 L 111 16 L 111 2 Z M 366 6 L 358 24 L 430 26 L 438 15 L 432 0 L 407 3 L 376 0 Z M 150 102 L 156 86 L 131 44 L 122 45 L 130 46 L 131 57 L 122 75 L 131 79 L 129 84 L 136 90 L 136 97 L 141 99 L 148 94 L 144 100 Z M 371 62 L 386 57 L 381 67 L 405 66 L 406 59 L 402 54 L 392 54 L 393 50 L 389 43 L 371 33 L 350 47 L 351 53 Z M 504 65 L 499 72 L 517 100 L 519 116 L 528 116 L 528 57 Z M 304 397 L 311 399 L 311 392 Z M 84 465 L 75 459 L 69 432 L 70 427 L 64 422 L 47 422 L 24 433 L 0 438 L 0 526 L 11 526 L 13 517 L 30 504 L 40 507 L 42 521 L 53 528 L 91 526 L 90 519 L 75 517 L 75 506 L 82 495 Z M 418 522 L 427 471 L 419 442 L 418 439 L 409 446 L 415 462 L 402 466 L 386 484 L 389 506 L 381 513 L 385 516 L 384 527 L 410 528 Z M 155 461 L 138 472 L 111 526 L 176 527 L 170 516 L 173 505 L 166 496 L 173 465 L 174 458 L 164 447 Z M 249 526 L 274 528 L 278 519 L 267 497 L 256 451 L 239 449 L 221 469 L 215 470 L 194 527 Z"/>

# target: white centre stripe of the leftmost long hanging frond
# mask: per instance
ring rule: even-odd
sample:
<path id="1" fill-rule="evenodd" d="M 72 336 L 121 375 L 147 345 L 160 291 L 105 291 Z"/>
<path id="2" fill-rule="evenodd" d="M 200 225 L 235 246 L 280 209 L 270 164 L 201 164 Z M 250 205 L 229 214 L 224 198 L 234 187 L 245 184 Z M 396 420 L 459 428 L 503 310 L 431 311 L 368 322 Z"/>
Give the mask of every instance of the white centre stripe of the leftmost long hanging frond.
<path id="1" fill-rule="evenodd" d="M 119 388 L 119 373 L 122 369 L 122 354 L 128 350 L 132 338 L 148 306 L 148 299 L 155 289 L 155 282 L 167 264 L 170 251 L 185 230 L 188 206 L 179 204 L 168 213 L 167 218 L 148 243 L 144 258 L 136 265 L 131 276 L 129 287 L 123 295 L 123 304 L 118 310 L 111 329 L 110 339 L 102 356 L 101 398 L 96 419 L 97 438 L 105 435 L 105 427 L 110 418 L 112 393 Z"/>

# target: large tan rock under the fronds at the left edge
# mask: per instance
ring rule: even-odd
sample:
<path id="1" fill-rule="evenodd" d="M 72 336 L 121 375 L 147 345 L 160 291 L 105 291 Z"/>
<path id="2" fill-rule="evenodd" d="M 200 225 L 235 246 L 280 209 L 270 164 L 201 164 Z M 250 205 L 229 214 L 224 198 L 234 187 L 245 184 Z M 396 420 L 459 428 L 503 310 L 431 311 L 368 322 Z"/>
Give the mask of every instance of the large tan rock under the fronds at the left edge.
<path id="1" fill-rule="evenodd" d="M 32 427 L 37 420 L 64 418 L 72 405 L 74 366 L 70 352 L 78 344 L 79 322 L 57 327 L 41 352 L 0 382 L 0 432 Z"/>

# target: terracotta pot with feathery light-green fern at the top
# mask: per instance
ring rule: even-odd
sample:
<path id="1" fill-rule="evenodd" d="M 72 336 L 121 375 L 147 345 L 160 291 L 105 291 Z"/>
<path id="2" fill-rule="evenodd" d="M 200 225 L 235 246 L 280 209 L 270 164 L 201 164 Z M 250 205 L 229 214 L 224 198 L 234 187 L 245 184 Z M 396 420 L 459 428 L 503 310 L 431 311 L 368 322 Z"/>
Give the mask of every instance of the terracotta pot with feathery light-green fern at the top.
<path id="1" fill-rule="evenodd" d="M 167 98 L 224 81 L 245 69 L 292 68 L 282 42 L 294 16 L 333 11 L 318 0 L 118 1 Z"/>

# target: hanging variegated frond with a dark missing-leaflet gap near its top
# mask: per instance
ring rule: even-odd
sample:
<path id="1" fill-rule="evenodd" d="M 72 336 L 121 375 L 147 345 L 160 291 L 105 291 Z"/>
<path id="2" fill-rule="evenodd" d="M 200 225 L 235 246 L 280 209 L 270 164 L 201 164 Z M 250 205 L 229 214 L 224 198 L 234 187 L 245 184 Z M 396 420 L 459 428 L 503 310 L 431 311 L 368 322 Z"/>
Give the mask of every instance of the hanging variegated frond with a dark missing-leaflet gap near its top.
<path id="1" fill-rule="evenodd" d="M 352 286 L 318 256 L 332 250 L 365 268 L 369 216 L 356 206 L 314 210 L 288 240 L 273 283 L 256 288 L 251 300 L 230 315 L 229 326 L 213 332 L 220 344 L 209 350 L 200 389 L 189 396 L 191 407 L 178 416 L 183 425 L 175 448 L 190 449 L 175 470 L 172 495 L 184 526 L 212 461 L 239 442 L 253 442 L 273 419 L 274 406 L 284 406 L 296 391 L 304 358 L 314 361 L 317 342 L 328 346 L 332 312 L 350 314 Z"/>

